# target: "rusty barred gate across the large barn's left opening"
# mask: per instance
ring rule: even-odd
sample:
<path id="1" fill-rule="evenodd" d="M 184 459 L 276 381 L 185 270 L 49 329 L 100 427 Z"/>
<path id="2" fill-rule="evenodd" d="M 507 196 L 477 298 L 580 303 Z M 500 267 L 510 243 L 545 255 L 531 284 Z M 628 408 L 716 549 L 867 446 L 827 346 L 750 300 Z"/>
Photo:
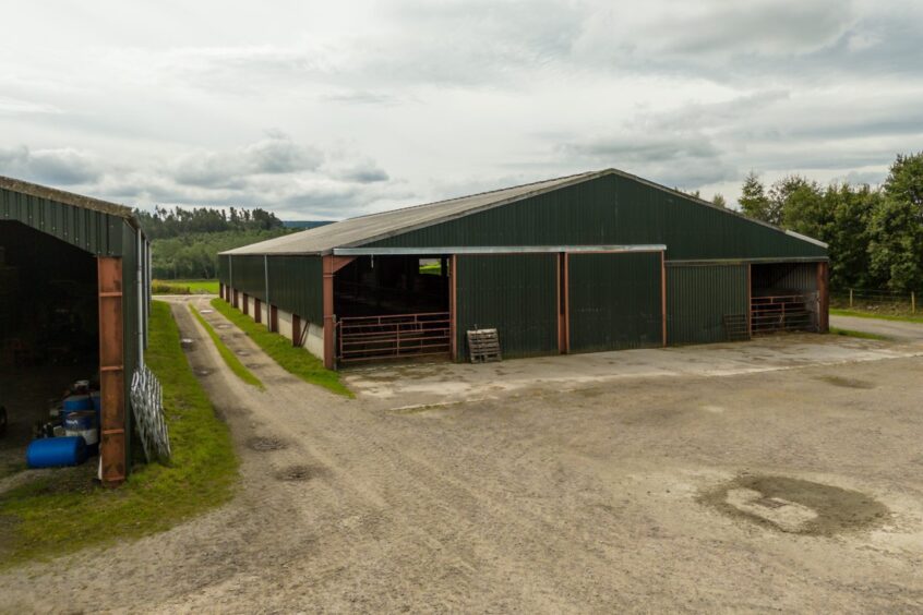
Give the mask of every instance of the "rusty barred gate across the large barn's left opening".
<path id="1" fill-rule="evenodd" d="M 345 317 L 337 322 L 337 359 L 344 363 L 451 352 L 448 312 Z"/>

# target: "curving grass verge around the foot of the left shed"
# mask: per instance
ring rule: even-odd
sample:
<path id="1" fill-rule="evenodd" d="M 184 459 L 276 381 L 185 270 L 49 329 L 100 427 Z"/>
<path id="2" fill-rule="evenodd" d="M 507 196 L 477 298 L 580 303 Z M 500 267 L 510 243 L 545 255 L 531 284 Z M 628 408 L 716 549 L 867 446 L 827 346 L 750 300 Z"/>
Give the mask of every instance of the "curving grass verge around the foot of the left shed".
<path id="1" fill-rule="evenodd" d="M 0 568 L 161 532 L 231 499 L 238 459 L 230 432 L 215 417 L 170 308 L 160 301 L 151 310 L 146 362 L 164 389 L 170 463 L 136 466 L 124 485 L 108 490 L 91 481 L 91 461 L 0 494 Z"/>

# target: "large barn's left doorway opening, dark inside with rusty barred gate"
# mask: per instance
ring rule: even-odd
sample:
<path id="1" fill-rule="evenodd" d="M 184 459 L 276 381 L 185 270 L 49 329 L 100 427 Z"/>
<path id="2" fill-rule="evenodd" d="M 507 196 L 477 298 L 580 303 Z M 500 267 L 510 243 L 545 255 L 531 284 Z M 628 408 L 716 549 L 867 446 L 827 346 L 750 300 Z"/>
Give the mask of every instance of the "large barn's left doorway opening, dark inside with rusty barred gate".
<path id="1" fill-rule="evenodd" d="M 334 278 L 337 360 L 449 357 L 451 258 L 357 256 Z"/>

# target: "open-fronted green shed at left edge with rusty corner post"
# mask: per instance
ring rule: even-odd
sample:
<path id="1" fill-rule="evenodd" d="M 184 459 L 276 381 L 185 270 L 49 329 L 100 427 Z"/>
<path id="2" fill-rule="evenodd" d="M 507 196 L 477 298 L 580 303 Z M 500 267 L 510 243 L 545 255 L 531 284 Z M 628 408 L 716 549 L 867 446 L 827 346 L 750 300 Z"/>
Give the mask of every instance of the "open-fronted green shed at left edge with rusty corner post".
<path id="1" fill-rule="evenodd" d="M 144 364 L 149 243 L 128 207 L 0 177 L 0 456 L 22 453 L 47 399 L 98 375 L 100 473 L 130 470 L 132 376 Z"/>

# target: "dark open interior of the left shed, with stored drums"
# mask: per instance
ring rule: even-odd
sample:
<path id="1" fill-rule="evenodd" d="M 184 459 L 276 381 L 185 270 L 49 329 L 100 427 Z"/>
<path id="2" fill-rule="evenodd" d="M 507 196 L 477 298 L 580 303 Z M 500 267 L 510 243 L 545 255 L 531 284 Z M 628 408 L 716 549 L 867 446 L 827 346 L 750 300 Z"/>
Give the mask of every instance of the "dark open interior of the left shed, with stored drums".
<path id="1" fill-rule="evenodd" d="M 86 448 L 67 455 L 79 461 L 95 448 L 98 326 L 96 258 L 21 222 L 0 221 L 0 407 L 7 417 L 0 475 L 24 463 L 33 441 L 70 436 L 68 444 L 75 444 L 77 419 Z"/>

